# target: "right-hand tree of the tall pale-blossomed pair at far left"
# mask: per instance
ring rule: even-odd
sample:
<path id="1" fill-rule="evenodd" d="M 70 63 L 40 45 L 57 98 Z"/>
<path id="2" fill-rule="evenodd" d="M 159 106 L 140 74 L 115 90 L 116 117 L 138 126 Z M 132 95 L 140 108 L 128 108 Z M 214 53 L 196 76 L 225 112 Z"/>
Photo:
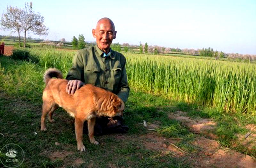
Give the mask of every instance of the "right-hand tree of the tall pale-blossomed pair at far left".
<path id="1" fill-rule="evenodd" d="M 24 43 L 23 47 L 26 47 L 26 33 L 27 31 L 32 31 L 37 35 L 48 35 L 48 29 L 45 27 L 44 17 L 40 13 L 35 13 L 32 11 L 32 3 L 28 6 L 28 3 L 25 4 L 25 9 L 22 10 L 20 19 L 19 19 L 24 32 Z"/>

